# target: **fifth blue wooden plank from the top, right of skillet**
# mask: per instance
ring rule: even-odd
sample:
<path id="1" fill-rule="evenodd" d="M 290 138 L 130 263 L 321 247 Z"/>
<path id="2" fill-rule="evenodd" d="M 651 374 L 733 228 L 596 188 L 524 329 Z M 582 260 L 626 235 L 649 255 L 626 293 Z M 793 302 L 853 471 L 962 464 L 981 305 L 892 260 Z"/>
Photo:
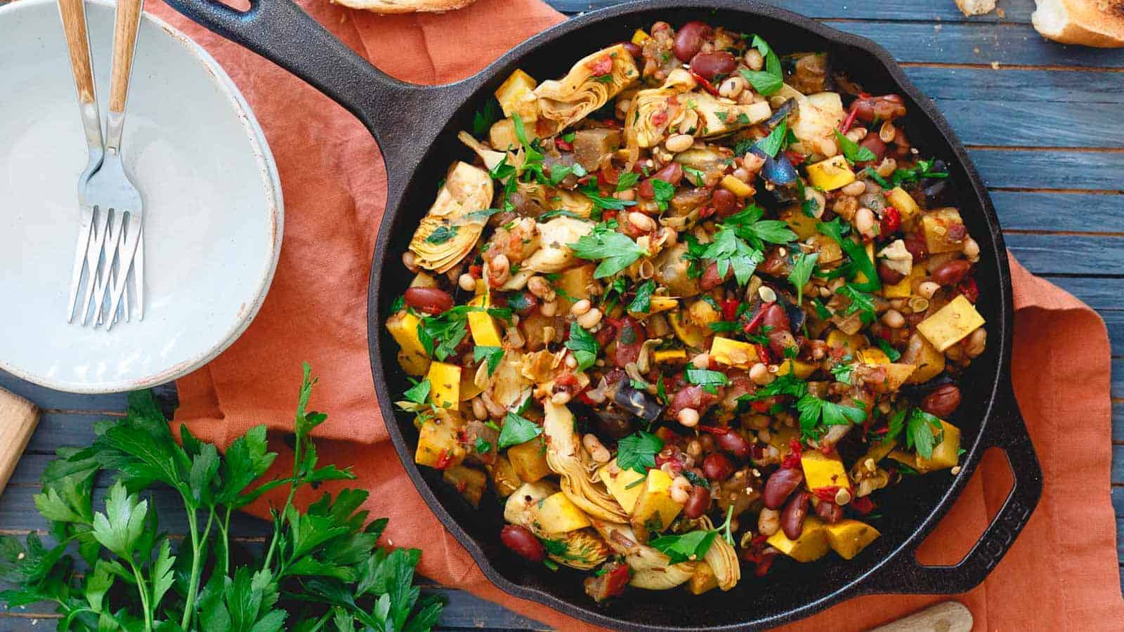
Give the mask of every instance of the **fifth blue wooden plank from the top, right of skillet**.
<path id="1" fill-rule="evenodd" d="M 1121 55 L 1124 58 L 1124 55 Z M 969 150 L 988 187 L 1121 191 L 1124 152 Z"/>

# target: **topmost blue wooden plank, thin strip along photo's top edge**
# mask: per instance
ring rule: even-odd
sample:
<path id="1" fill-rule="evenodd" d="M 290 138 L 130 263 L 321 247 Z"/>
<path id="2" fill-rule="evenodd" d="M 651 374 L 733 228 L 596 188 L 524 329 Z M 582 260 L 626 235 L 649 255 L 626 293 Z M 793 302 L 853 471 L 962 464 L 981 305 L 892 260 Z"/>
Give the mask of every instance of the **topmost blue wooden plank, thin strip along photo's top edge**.
<path id="1" fill-rule="evenodd" d="M 623 0 L 546 0 L 563 13 L 581 13 L 619 4 Z M 954 3 L 944 1 L 917 2 L 916 0 L 883 0 L 881 2 L 840 2 L 839 0 L 788 0 L 770 2 L 789 11 L 813 18 L 881 19 L 881 20 L 941 20 L 981 24 L 1030 22 L 1034 3 L 1031 0 L 1008 0 L 1001 3 L 1004 17 L 995 12 L 967 17 Z M 1010 7 L 1008 7 L 1010 4 Z"/>

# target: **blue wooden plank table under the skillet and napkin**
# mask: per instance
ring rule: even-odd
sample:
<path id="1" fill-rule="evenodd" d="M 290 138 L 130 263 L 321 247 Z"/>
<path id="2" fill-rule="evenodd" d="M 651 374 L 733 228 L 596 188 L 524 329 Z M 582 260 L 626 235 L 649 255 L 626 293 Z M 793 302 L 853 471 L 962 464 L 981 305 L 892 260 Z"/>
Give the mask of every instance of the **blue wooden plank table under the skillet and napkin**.
<path id="1" fill-rule="evenodd" d="M 2 3 L 3 0 L 0 0 Z M 566 13 L 616 0 L 551 0 Z M 1124 586 L 1124 49 L 1061 46 L 1031 27 L 1033 0 L 1000 0 L 1001 17 L 966 18 L 953 0 L 789 0 L 779 3 L 888 48 L 945 114 L 991 191 L 1007 245 L 1032 272 L 1093 306 L 1113 341 L 1113 473 L 1117 552 Z M 2 335 L 13 335 L 4 332 Z M 0 496 L 0 533 L 43 530 L 31 496 L 58 445 L 84 444 L 91 424 L 120 415 L 124 395 L 78 396 L 0 372 L 0 386 L 44 409 L 43 419 Z M 171 385 L 157 389 L 169 410 Z M 157 507 L 175 506 L 157 496 Z M 165 515 L 178 516 L 179 511 Z M 183 525 L 162 520 L 172 533 Z M 236 533 L 263 524 L 242 517 Z M 545 626 L 466 593 L 447 595 L 446 629 Z M 0 613 L 0 631 L 54 628 L 49 614 Z"/>

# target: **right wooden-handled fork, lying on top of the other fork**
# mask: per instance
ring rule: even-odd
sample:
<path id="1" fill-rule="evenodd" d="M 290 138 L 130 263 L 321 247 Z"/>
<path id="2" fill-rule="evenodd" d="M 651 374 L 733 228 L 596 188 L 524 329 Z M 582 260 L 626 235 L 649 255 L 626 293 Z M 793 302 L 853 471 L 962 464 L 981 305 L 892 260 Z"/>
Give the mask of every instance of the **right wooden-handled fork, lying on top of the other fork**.
<path id="1" fill-rule="evenodd" d="M 87 196 L 99 213 L 112 214 L 115 226 L 111 232 L 117 238 L 106 244 L 102 273 L 106 276 L 105 296 L 98 298 L 99 309 L 109 297 L 109 312 L 105 318 L 106 328 L 114 326 L 114 318 L 120 305 L 121 295 L 128 283 L 129 271 L 137 263 L 135 255 L 144 225 L 144 208 L 140 192 L 125 173 L 121 163 L 121 132 L 125 127 L 125 102 L 129 91 L 129 74 L 133 70 L 133 54 L 136 48 L 137 30 L 144 0 L 119 0 L 114 19 L 114 62 L 109 87 L 109 116 L 106 120 L 106 156 L 101 169 L 87 183 Z M 117 278 L 110 274 L 117 264 Z M 134 278 L 143 281 L 143 271 Z M 138 283 L 139 285 L 139 283 Z M 144 303 L 144 292 L 137 288 L 137 299 Z M 140 313 L 138 309 L 138 314 Z M 97 323 L 94 323 L 97 324 Z"/>

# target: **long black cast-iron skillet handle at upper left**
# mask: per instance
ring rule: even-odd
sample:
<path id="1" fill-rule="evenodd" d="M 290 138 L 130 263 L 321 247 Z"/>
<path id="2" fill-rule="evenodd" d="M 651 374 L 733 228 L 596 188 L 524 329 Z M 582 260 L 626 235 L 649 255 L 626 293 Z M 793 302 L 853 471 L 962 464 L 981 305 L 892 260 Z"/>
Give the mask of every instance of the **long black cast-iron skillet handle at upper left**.
<path id="1" fill-rule="evenodd" d="M 251 0 L 238 11 L 218 0 L 167 0 L 176 11 L 288 70 L 355 115 L 379 141 L 388 169 L 417 153 L 415 129 L 426 118 L 404 115 L 445 88 L 393 79 L 348 48 L 293 0 Z"/>

